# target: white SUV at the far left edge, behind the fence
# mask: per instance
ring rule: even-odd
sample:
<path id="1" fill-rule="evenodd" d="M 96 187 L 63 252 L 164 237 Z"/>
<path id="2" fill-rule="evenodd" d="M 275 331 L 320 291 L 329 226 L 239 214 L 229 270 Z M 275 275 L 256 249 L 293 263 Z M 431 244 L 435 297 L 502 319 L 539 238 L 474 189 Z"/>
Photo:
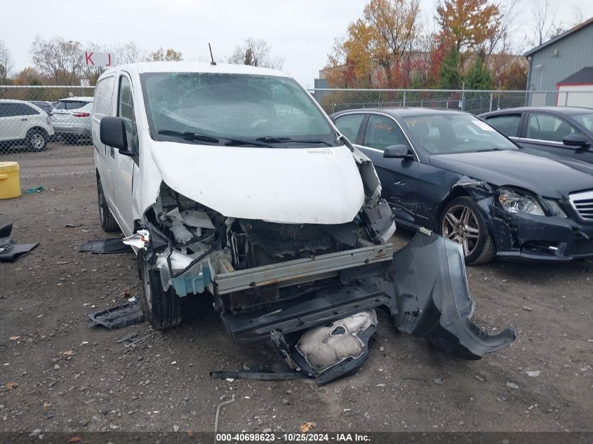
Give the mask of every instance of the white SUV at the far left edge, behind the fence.
<path id="1" fill-rule="evenodd" d="M 53 135 L 50 117 L 43 109 L 23 100 L 0 100 L 0 147 L 26 144 L 43 151 Z"/>

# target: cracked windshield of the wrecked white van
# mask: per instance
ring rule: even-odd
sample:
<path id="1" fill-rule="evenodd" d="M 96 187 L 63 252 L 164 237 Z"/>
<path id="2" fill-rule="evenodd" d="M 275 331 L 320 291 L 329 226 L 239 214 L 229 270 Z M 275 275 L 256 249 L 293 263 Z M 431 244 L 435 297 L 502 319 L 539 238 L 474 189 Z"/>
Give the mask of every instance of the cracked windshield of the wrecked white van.
<path id="1" fill-rule="evenodd" d="M 151 73 L 141 81 L 154 140 L 283 148 L 341 144 L 311 97 L 286 77 Z"/>

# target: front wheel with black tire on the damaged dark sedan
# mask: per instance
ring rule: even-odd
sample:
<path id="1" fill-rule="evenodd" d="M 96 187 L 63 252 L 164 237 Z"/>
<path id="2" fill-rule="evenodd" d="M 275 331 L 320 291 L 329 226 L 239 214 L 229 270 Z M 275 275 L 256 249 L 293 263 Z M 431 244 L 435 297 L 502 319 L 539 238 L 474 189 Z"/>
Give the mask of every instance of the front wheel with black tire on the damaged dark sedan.
<path id="1" fill-rule="evenodd" d="M 466 223 L 461 223 L 462 219 Z M 455 224 L 455 220 L 459 223 Z M 447 203 L 439 218 L 439 232 L 444 238 L 462 243 L 467 265 L 484 264 L 496 257 L 488 224 L 471 197 L 458 197 Z"/>

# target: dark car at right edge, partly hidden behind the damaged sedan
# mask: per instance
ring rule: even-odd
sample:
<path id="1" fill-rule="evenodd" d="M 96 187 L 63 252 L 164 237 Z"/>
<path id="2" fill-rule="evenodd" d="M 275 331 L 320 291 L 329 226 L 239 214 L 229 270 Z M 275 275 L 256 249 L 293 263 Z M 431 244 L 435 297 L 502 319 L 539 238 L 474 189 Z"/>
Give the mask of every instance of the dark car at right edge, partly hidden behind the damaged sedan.
<path id="1" fill-rule="evenodd" d="M 553 154 L 593 163 L 593 109 L 510 108 L 480 115 L 532 154 Z"/>

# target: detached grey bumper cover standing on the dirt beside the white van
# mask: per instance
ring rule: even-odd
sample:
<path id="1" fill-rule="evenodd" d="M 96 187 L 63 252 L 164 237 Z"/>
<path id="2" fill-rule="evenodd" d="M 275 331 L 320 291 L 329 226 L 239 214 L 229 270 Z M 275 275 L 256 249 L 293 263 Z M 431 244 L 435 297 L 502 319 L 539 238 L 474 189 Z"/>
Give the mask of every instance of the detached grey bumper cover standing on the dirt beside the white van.
<path id="1" fill-rule="evenodd" d="M 401 332 L 425 337 L 434 347 L 466 359 L 506 347 L 512 327 L 490 335 L 472 323 L 460 245 L 437 235 L 416 236 L 393 255 L 395 304 L 390 307 Z"/>

